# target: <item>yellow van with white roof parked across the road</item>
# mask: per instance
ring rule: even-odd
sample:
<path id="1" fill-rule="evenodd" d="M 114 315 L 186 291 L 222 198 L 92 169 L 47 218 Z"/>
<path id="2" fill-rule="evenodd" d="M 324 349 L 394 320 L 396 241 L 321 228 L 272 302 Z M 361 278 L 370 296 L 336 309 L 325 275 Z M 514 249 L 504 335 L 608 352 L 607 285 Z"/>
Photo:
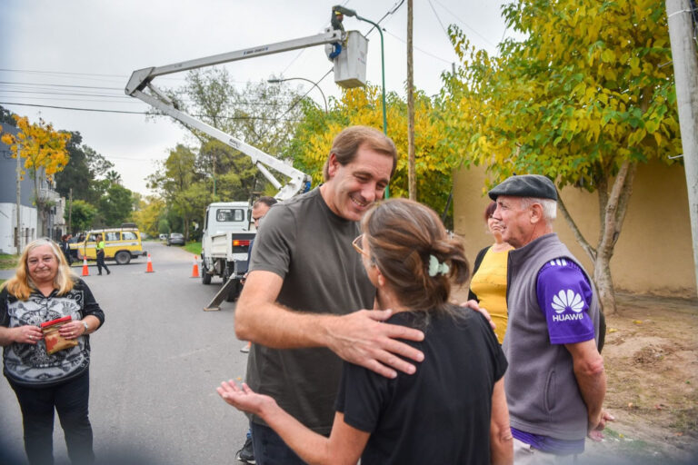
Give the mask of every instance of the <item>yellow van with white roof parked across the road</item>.
<path id="1" fill-rule="evenodd" d="M 96 260 L 98 234 L 102 234 L 105 241 L 105 260 L 115 260 L 116 263 L 125 265 L 131 262 L 132 258 L 147 254 L 143 250 L 138 228 L 95 229 L 85 233 L 84 242 L 71 244 L 76 246 L 80 260 L 83 257 L 87 257 L 87 260 Z"/>

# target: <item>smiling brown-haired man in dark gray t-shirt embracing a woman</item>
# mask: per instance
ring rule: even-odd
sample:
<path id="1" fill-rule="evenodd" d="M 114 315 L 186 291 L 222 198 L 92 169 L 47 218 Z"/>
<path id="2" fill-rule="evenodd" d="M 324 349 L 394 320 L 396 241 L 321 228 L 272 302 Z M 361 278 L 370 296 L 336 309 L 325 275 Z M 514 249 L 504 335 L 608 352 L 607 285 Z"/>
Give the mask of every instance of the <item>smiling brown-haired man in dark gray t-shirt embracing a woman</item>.
<path id="1" fill-rule="evenodd" d="M 264 218 L 235 309 L 235 334 L 254 342 L 250 387 L 323 434 L 334 420 L 341 359 L 393 378 L 414 372 L 397 355 L 424 358 L 397 341 L 421 341 L 421 331 L 382 323 L 390 311 L 362 310 L 374 307 L 374 288 L 352 248 L 356 222 L 383 197 L 396 160 L 393 141 L 373 128 L 337 135 L 324 184 Z M 251 422 L 257 463 L 303 463 L 261 419 Z"/>

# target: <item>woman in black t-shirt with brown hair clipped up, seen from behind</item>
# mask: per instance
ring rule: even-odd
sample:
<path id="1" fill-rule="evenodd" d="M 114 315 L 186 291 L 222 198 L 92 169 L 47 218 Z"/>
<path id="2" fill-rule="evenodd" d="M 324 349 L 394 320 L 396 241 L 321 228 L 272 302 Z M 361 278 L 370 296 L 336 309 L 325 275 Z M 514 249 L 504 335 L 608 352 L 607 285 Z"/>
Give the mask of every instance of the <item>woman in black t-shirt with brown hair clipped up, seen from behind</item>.
<path id="1" fill-rule="evenodd" d="M 234 381 L 218 393 L 260 416 L 307 463 L 362 465 L 512 463 L 504 397 L 507 362 L 479 312 L 449 303 L 469 276 L 463 245 L 430 208 L 406 199 L 374 205 L 353 244 L 388 320 L 424 331 L 414 374 L 394 379 L 344 362 L 329 438 L 308 430 L 269 396 Z"/>

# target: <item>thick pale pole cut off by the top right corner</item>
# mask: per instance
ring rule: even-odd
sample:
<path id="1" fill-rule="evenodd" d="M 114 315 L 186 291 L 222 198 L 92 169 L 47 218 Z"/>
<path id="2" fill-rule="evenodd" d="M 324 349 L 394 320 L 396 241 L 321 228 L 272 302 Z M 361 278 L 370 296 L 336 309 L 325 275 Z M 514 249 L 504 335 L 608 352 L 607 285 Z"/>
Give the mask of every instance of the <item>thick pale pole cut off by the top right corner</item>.
<path id="1" fill-rule="evenodd" d="M 693 43 L 691 2 L 666 0 L 672 43 L 673 79 L 686 172 L 688 206 L 693 235 L 693 266 L 698 289 L 698 56 Z"/>

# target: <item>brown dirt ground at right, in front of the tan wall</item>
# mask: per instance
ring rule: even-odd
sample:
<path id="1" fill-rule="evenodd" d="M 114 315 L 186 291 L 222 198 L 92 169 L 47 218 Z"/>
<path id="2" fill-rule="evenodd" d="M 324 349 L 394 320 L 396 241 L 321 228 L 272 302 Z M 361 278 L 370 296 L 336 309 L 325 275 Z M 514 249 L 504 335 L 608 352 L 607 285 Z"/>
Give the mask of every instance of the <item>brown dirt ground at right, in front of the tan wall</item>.
<path id="1" fill-rule="evenodd" d="M 605 407 L 588 453 L 627 463 L 698 463 L 698 301 L 616 296 L 607 315 Z M 613 460 L 612 460 L 613 461 Z"/>

